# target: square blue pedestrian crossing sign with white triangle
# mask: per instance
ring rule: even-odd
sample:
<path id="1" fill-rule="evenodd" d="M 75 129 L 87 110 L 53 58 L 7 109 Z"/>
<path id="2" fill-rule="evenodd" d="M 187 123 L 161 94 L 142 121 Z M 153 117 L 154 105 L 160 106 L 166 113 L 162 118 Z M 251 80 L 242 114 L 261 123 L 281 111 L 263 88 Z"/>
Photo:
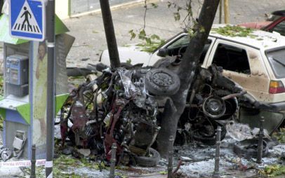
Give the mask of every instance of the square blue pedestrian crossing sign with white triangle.
<path id="1" fill-rule="evenodd" d="M 43 0 L 10 0 L 10 34 L 32 41 L 46 38 L 46 7 Z"/>

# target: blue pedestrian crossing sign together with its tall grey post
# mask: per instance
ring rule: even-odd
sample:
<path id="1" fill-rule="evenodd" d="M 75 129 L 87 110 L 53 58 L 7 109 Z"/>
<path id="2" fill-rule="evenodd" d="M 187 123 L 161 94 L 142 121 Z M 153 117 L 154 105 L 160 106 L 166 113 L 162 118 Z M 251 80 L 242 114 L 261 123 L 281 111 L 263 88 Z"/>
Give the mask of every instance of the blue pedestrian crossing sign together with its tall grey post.
<path id="1" fill-rule="evenodd" d="M 10 0 L 9 11 L 9 32 L 12 37 L 32 41 L 47 39 L 46 177 L 51 178 L 55 116 L 55 0 L 48 0 L 47 6 L 44 0 Z"/>

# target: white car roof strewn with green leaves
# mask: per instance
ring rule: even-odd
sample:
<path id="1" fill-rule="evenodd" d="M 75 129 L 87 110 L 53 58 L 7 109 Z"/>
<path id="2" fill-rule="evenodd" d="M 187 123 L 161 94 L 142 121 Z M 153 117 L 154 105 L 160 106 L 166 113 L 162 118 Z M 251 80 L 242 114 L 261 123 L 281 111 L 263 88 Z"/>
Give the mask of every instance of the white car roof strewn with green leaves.
<path id="1" fill-rule="evenodd" d="M 217 39 L 225 39 L 227 41 L 233 41 L 235 43 L 241 43 L 246 46 L 251 46 L 258 49 L 271 49 L 279 48 L 283 46 L 285 48 L 285 36 L 279 34 L 274 34 L 270 32 L 265 32 L 258 29 L 253 29 L 251 36 L 241 37 L 241 36 L 225 36 L 223 34 L 218 34 L 218 32 L 213 29 L 219 27 L 226 27 L 227 25 L 213 25 L 210 32 L 210 36 L 213 36 Z"/>

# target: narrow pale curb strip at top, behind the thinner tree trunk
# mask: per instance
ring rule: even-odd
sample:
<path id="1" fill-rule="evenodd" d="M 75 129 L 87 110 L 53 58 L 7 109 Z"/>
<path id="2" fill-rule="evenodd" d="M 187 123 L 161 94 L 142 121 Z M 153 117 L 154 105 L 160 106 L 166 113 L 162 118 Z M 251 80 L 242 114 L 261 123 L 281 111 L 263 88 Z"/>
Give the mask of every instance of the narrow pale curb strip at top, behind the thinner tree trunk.
<path id="1" fill-rule="evenodd" d="M 150 3 L 155 3 L 157 1 L 161 1 L 161 0 L 147 0 L 147 4 Z M 118 4 L 118 5 L 114 5 L 111 6 L 111 11 L 117 10 L 117 9 L 121 9 L 121 8 L 130 8 L 133 6 L 138 6 L 138 5 L 143 5 L 145 4 L 145 0 L 135 0 L 135 1 L 131 1 L 131 2 L 126 2 L 126 3 L 122 3 L 122 4 Z M 75 14 L 75 15 L 69 15 L 69 18 L 78 18 L 84 15 L 92 15 L 92 14 L 98 14 L 101 13 L 101 9 L 96 9 L 93 11 L 88 11 L 85 13 L 79 13 L 79 14 Z"/>

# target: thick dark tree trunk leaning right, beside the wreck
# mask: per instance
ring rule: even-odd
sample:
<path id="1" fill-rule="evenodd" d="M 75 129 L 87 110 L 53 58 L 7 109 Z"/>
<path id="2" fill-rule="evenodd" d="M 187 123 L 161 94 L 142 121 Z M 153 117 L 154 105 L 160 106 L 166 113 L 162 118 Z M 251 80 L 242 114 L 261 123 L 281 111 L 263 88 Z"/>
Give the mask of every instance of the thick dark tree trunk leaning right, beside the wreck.
<path id="1" fill-rule="evenodd" d="M 192 83 L 194 72 L 199 64 L 199 58 L 208 39 L 213 20 L 218 9 L 219 0 L 206 0 L 201 8 L 198 25 L 195 27 L 194 36 L 190 39 L 183 60 L 178 69 L 180 78 L 180 89 L 178 93 L 171 96 L 166 103 L 161 130 L 157 136 L 157 149 L 161 156 L 168 156 L 168 139 L 171 135 L 175 138 L 179 118 L 185 109 L 188 90 Z"/>

